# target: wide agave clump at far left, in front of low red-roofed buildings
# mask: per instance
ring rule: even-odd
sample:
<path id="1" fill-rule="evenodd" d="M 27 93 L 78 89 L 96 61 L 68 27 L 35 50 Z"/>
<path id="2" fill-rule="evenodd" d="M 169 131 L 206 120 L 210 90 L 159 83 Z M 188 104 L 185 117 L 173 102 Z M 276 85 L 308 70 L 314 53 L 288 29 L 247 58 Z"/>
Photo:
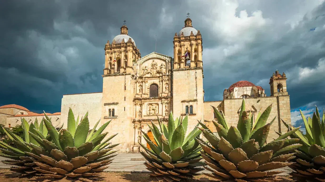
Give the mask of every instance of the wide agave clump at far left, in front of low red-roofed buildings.
<path id="1" fill-rule="evenodd" d="M 7 134 L 14 141 L 15 147 L 3 146 L 7 149 L 1 151 L 7 158 L 13 160 L 4 161 L 6 164 L 18 165 L 12 170 L 33 169 L 27 174 L 41 174 L 53 178 L 77 177 L 80 181 L 92 181 L 89 178 L 99 175 L 106 169 L 113 159 L 111 157 L 117 151 L 112 148 L 118 144 L 110 145 L 109 141 L 116 134 L 110 136 L 104 142 L 108 132 L 102 133 L 110 121 L 103 124 L 96 132 L 95 127 L 89 131 L 87 114 L 79 123 L 79 117 L 74 119 L 71 108 L 68 114 L 67 129 L 57 131 L 46 116 L 38 127 L 36 124 L 28 125 L 22 119 L 25 140 L 22 141 L 14 134 Z M 29 140 L 28 140 L 29 139 Z"/>

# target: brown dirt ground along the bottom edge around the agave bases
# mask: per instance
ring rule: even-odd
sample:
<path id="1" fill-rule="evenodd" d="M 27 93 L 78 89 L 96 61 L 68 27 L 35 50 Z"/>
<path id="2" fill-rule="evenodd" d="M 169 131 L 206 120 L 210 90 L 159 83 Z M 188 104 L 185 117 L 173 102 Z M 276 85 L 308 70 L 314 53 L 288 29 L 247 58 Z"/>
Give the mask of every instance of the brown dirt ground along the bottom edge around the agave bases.
<path id="1" fill-rule="evenodd" d="M 17 177 L 18 173 L 13 173 L 9 171 L 9 169 L 0 169 L 0 182 L 71 182 L 76 181 L 80 182 L 79 180 L 73 180 L 71 178 L 63 178 L 60 180 L 56 180 L 53 178 L 46 178 L 46 177 L 24 177 L 19 178 Z M 294 182 L 292 179 L 288 179 L 286 177 L 277 176 L 277 178 L 281 179 L 279 182 Z M 153 182 L 157 181 L 155 178 L 149 176 L 148 173 L 127 173 L 127 172 L 108 172 L 102 173 L 101 176 L 98 178 L 94 178 L 94 181 L 109 181 L 109 182 Z M 187 182 L 210 182 L 213 178 L 199 175 L 195 176 L 193 179 L 186 180 Z"/>

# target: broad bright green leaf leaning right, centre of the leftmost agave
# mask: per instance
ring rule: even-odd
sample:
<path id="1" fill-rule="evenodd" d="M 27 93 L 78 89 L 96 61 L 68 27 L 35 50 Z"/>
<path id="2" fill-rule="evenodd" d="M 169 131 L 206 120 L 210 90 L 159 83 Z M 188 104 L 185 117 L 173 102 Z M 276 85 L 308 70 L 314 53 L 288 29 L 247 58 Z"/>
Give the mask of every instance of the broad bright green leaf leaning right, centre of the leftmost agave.
<path id="1" fill-rule="evenodd" d="M 74 146 L 76 148 L 80 147 L 83 143 L 86 142 L 88 131 L 89 131 L 89 121 L 88 121 L 88 117 L 85 117 L 78 125 L 77 130 L 74 134 Z"/>

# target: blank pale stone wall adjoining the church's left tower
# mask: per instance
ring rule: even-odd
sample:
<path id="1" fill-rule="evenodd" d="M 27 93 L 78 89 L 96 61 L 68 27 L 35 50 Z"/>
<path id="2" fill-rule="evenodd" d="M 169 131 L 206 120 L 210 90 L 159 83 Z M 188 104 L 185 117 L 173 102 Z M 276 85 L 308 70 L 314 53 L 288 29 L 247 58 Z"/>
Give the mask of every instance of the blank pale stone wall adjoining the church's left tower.
<path id="1" fill-rule="evenodd" d="M 74 118 L 79 119 L 88 111 L 89 128 L 93 128 L 96 122 L 101 118 L 102 93 L 86 93 L 63 95 L 61 102 L 61 125 L 67 128 L 69 108 L 72 109 Z M 99 128 L 100 126 L 97 126 Z"/>

